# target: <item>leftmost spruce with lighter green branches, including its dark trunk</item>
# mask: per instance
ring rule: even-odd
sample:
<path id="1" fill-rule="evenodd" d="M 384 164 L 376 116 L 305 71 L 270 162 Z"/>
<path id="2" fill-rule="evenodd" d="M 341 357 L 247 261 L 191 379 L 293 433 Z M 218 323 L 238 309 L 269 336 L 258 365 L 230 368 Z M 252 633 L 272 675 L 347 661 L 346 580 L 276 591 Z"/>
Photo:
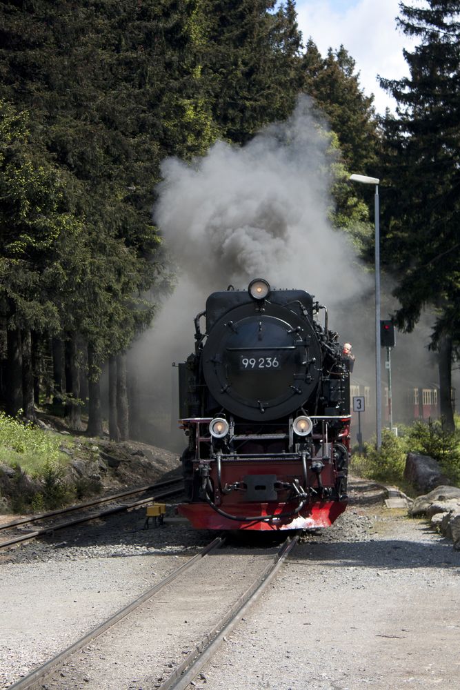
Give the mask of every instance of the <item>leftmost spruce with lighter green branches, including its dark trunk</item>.
<path id="1" fill-rule="evenodd" d="M 6 408 L 34 417 L 31 342 L 57 333 L 50 257 L 79 221 L 68 213 L 57 167 L 29 130 L 27 113 L 0 101 L 0 312 L 8 330 Z M 52 262 L 51 262 L 52 263 Z M 38 401 L 37 401 L 38 402 Z"/>

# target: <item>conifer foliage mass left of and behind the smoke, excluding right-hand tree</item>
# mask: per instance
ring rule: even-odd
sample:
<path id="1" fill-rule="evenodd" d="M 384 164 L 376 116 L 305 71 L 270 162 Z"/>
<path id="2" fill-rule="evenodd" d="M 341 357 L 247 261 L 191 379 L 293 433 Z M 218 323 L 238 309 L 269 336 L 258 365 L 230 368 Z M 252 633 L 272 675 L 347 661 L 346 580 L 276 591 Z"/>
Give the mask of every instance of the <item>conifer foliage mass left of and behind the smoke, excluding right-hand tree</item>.
<path id="1" fill-rule="evenodd" d="M 243 144 L 308 87 L 337 132 L 331 217 L 364 242 L 346 180 L 372 161 L 372 99 L 343 48 L 303 59 L 294 0 L 3 0 L 0 19 L 1 315 L 43 341 L 78 334 L 91 382 L 172 282 L 151 218 L 165 157 Z"/>

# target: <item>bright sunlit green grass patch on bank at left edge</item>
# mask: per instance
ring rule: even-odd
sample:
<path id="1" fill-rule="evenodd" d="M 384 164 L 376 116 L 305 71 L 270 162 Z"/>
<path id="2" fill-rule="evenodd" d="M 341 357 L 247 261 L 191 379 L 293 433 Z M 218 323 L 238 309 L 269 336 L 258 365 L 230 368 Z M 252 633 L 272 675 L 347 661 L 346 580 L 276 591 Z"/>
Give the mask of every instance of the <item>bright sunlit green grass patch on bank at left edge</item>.
<path id="1" fill-rule="evenodd" d="M 23 471 L 36 473 L 46 466 L 66 462 L 61 453 L 61 441 L 55 435 L 0 412 L 0 449 L 2 461 Z"/>

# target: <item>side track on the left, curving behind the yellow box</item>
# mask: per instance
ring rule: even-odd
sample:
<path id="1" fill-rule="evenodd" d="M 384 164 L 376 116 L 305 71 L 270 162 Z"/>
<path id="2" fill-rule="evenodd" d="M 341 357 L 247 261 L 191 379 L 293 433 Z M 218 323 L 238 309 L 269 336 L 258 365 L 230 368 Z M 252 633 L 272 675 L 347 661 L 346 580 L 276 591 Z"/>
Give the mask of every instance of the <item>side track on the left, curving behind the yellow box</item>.
<path id="1" fill-rule="evenodd" d="M 154 494 L 150 494 L 145 498 L 140 500 L 117 504 L 100 511 L 94 511 L 94 507 L 100 506 L 106 503 L 117 502 L 125 497 L 137 495 L 141 493 L 147 493 L 154 491 Z M 74 506 L 68 506 L 56 511 L 49 511 L 48 513 L 41 513 L 40 515 L 30 515 L 28 517 L 21 517 L 18 520 L 12 520 L 11 522 L 6 522 L 0 525 L 1 532 L 8 532 L 14 530 L 17 527 L 23 527 L 27 524 L 34 524 L 36 522 L 51 521 L 46 524 L 46 526 L 41 526 L 38 529 L 28 531 L 26 533 L 14 534 L 9 538 L 0 541 L 0 549 L 6 548 L 6 546 L 13 546 L 14 544 L 19 544 L 21 542 L 29 541 L 42 535 L 52 534 L 55 531 L 64 529 L 66 527 L 77 526 L 83 524 L 84 522 L 90 522 L 90 520 L 96 520 L 101 517 L 108 517 L 109 515 L 114 515 L 116 513 L 121 513 L 123 511 L 128 511 L 138 506 L 143 506 L 150 503 L 152 500 L 163 500 L 171 496 L 177 495 L 183 491 L 182 480 L 172 479 L 165 482 L 157 482 L 156 484 L 148 484 L 147 486 L 139 486 L 137 489 L 128 489 L 127 491 L 120 491 L 119 493 L 112 494 L 110 496 L 105 496 L 101 498 L 96 498 L 91 501 L 84 503 L 79 503 Z M 66 520 L 64 522 L 54 522 L 54 520 L 61 516 L 67 515 L 68 513 L 78 513 L 83 511 L 88 511 L 80 517 L 74 517 L 72 520 Z"/>

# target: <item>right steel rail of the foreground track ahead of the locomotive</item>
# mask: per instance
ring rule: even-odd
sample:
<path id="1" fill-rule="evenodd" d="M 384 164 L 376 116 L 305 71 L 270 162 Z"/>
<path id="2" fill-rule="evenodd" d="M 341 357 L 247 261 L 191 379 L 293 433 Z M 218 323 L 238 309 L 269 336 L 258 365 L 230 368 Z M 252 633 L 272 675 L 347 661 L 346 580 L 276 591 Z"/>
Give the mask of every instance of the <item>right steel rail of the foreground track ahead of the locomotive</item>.
<path id="1" fill-rule="evenodd" d="M 288 538 L 284 542 L 272 563 L 268 564 L 257 580 L 254 580 L 246 592 L 234 603 L 230 611 L 202 638 L 183 662 L 159 685 L 157 690 L 185 690 L 189 686 L 190 682 L 197 677 L 201 669 L 217 652 L 223 638 L 234 629 L 246 611 L 272 582 L 281 565 L 297 544 L 298 539 L 297 536 L 293 539 Z"/>

